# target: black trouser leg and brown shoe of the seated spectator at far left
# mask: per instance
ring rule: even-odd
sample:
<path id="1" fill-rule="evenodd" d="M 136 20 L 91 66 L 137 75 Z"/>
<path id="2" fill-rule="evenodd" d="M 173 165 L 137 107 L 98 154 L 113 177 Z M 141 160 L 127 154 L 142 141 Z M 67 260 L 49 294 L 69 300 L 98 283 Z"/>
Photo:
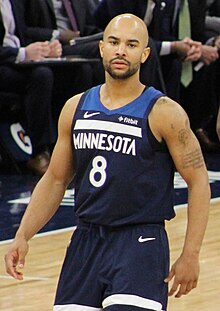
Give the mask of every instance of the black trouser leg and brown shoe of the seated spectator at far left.
<path id="1" fill-rule="evenodd" d="M 49 151 L 55 141 L 51 115 L 53 73 L 46 67 L 22 72 L 10 65 L 2 65 L 6 49 L 0 46 L 0 91 L 17 93 L 22 97 L 23 113 L 19 118 L 24 119 L 33 149 L 27 168 L 41 176 L 47 170 Z"/>

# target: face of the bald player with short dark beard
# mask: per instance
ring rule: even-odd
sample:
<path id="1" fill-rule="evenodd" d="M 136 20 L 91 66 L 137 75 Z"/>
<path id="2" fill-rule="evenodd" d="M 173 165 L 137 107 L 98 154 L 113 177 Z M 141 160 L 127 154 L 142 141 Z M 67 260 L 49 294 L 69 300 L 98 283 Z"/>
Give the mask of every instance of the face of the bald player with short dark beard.
<path id="1" fill-rule="evenodd" d="M 145 61 L 146 38 L 133 21 L 121 21 L 107 28 L 100 50 L 108 74 L 114 79 L 127 79 Z"/>

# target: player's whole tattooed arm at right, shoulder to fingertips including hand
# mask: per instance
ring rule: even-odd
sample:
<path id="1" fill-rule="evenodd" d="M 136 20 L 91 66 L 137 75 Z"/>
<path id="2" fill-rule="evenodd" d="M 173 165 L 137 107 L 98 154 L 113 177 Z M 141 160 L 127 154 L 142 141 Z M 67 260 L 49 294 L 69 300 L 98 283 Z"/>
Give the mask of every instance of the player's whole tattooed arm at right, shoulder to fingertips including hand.
<path id="1" fill-rule="evenodd" d="M 183 250 L 165 280 L 169 282 L 174 277 L 170 295 L 176 293 L 176 297 L 180 297 L 196 287 L 198 281 L 199 252 L 210 202 L 208 174 L 188 117 L 178 104 L 166 97 L 160 99 L 151 113 L 150 125 L 157 139 L 166 141 L 176 169 L 188 185 L 188 219 Z"/>

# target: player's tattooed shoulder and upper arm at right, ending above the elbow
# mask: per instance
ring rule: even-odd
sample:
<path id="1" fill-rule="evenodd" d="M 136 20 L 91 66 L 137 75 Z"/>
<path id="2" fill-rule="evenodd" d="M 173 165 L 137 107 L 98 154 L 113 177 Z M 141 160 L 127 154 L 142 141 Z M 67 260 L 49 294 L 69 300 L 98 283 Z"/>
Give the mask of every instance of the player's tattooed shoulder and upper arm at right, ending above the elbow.
<path id="1" fill-rule="evenodd" d="M 178 171 L 205 169 L 205 163 L 198 140 L 190 128 L 189 118 L 184 109 L 168 97 L 161 97 L 149 116 L 150 127 L 155 137 L 164 140 Z"/>

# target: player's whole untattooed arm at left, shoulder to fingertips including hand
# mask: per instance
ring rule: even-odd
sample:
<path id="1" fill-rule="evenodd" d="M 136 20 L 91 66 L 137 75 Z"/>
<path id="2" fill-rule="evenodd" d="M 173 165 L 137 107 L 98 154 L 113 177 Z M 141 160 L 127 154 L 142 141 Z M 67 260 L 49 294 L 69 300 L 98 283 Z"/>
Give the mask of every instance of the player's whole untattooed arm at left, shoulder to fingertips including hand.
<path id="1" fill-rule="evenodd" d="M 23 278 L 16 267 L 24 266 L 28 241 L 57 211 L 65 190 L 73 178 L 71 124 L 78 99 L 79 96 L 70 99 L 61 112 L 58 140 L 49 168 L 36 185 L 15 239 L 5 256 L 6 271 L 16 279 Z"/>

